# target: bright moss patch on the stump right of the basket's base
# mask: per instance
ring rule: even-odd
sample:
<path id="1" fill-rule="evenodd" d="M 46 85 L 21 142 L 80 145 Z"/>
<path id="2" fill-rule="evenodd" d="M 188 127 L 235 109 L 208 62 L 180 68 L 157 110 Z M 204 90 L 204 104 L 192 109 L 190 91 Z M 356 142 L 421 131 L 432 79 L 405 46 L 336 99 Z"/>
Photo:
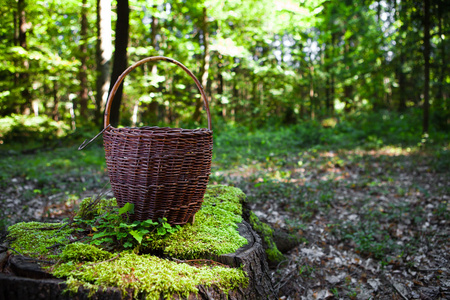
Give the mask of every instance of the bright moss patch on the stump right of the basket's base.
<path id="1" fill-rule="evenodd" d="M 208 187 L 195 223 L 163 239 L 155 239 L 149 249 L 184 259 L 233 253 L 247 243 L 237 231 L 242 222 L 242 201 L 245 194 L 238 188 L 224 185 Z"/>

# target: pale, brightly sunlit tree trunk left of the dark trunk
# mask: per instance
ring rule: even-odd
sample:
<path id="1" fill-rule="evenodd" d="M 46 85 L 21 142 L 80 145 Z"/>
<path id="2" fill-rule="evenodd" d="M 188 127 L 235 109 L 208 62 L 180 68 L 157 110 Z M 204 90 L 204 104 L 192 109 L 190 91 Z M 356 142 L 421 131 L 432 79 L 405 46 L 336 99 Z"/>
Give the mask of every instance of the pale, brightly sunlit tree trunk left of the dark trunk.
<path id="1" fill-rule="evenodd" d="M 101 113 L 108 99 L 112 56 L 111 1 L 97 0 L 97 83 L 95 120 L 102 124 Z"/>

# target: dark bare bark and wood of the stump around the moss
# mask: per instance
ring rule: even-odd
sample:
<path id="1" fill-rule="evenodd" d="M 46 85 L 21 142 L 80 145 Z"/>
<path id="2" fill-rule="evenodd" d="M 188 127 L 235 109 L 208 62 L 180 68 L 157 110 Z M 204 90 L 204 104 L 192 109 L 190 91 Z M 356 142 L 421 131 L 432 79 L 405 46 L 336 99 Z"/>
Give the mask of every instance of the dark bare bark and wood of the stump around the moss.
<path id="1" fill-rule="evenodd" d="M 187 299 L 274 299 L 275 293 L 268 274 L 268 265 L 261 238 L 246 221 L 238 224 L 239 234 L 248 244 L 236 252 L 214 257 L 214 260 L 231 267 L 243 266 L 249 284 L 239 287 L 226 295 L 214 286 L 198 286 L 198 294 L 190 294 Z M 63 293 L 66 284 L 40 268 L 33 259 L 7 252 L 0 248 L 0 300 L 22 299 L 131 299 L 132 293 L 123 296 L 117 288 L 99 289 L 89 296 L 89 290 L 80 288 L 73 294 Z M 211 256 L 213 258 L 213 255 Z M 143 298 L 143 297 L 140 297 Z"/>

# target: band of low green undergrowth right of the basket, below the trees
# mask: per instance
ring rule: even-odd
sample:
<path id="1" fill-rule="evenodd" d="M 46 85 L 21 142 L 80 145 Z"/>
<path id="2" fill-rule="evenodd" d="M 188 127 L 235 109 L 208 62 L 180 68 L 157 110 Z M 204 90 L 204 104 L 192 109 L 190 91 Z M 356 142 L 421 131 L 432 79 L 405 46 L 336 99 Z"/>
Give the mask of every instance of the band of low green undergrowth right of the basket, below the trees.
<path id="1" fill-rule="evenodd" d="M 225 126 L 216 132 L 214 161 L 224 168 L 255 160 L 282 166 L 290 162 L 291 157 L 306 151 L 423 147 L 420 121 L 418 111 L 411 111 L 410 114 L 383 111 L 348 116 L 328 128 L 314 121 L 258 129 Z M 445 143 L 449 139 L 448 133 L 432 131 L 425 144 L 431 147 L 447 146 Z M 446 152 L 441 155 L 445 164 Z"/>

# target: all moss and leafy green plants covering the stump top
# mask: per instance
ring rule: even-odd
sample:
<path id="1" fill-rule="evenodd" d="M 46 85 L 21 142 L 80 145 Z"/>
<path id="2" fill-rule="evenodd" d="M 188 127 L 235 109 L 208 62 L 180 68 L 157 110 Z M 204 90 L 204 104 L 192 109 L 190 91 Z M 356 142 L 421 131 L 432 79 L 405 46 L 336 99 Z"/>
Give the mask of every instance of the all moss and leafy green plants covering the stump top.
<path id="1" fill-rule="evenodd" d="M 66 278 L 71 292 L 83 286 L 92 295 L 100 287 L 117 287 L 124 295 L 131 292 L 129 296 L 135 299 L 142 295 L 146 299 L 160 299 L 161 295 L 188 297 L 197 294 L 198 286 L 203 285 L 227 294 L 248 285 L 248 277 L 241 268 L 191 266 L 123 248 L 140 245 L 141 250 L 162 251 L 165 256 L 178 259 L 234 252 L 247 242 L 236 230 L 236 222 L 242 221 L 244 198 L 236 188 L 209 187 L 202 209 L 196 214 L 197 222 L 182 228 L 172 227 L 165 220 L 129 223 L 123 216 L 133 212 L 133 205 L 118 208 L 114 206 L 115 199 L 102 199 L 94 205 L 92 199 L 86 198 L 70 226 L 19 223 L 9 227 L 8 238 L 24 255 L 57 260 L 48 270 L 56 277 Z M 87 235 L 83 243 L 70 243 L 70 236 L 86 232 L 93 234 Z M 55 244 L 63 248 L 62 252 L 56 250 Z"/>

